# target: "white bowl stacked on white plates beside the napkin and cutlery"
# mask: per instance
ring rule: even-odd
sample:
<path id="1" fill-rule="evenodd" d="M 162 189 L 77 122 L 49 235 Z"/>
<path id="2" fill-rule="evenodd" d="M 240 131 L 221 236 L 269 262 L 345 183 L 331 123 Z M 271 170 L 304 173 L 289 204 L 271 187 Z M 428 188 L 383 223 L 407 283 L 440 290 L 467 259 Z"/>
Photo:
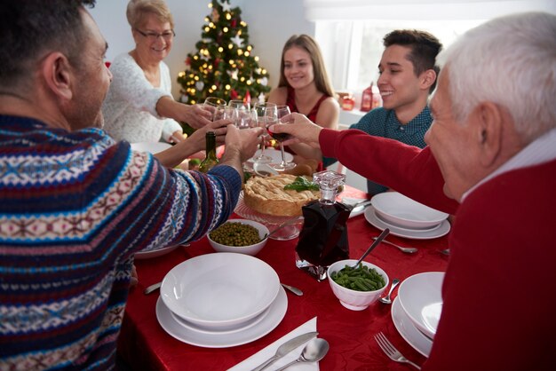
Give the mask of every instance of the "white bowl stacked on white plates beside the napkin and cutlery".
<path id="1" fill-rule="evenodd" d="M 191 258 L 164 277 L 156 318 L 176 339 L 206 348 L 250 343 L 282 321 L 288 298 L 274 269 L 256 257 Z"/>

